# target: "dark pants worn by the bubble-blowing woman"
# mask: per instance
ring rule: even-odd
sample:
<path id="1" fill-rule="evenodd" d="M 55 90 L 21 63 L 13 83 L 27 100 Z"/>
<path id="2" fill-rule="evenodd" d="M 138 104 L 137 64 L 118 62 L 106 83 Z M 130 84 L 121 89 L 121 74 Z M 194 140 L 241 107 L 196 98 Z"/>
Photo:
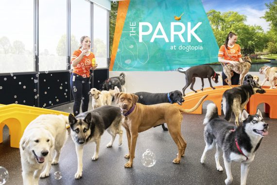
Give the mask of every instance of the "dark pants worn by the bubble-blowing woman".
<path id="1" fill-rule="evenodd" d="M 73 76 L 75 79 L 73 81 Z M 86 112 L 89 103 L 89 77 L 83 78 L 78 74 L 72 73 L 70 77 L 70 87 L 74 98 L 73 114 L 74 116 L 80 113 L 81 100 L 83 99 L 82 112 Z"/>

